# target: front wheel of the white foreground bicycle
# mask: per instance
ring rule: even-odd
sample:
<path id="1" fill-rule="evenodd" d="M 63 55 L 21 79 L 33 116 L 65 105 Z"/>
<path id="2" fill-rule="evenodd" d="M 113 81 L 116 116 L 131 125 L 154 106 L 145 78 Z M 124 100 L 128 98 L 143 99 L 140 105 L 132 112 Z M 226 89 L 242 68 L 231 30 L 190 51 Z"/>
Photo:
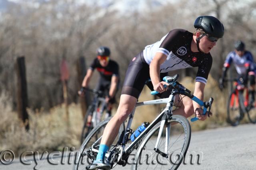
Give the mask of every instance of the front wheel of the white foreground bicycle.
<path id="1" fill-rule="evenodd" d="M 161 154 L 154 150 L 160 129 L 159 122 L 149 131 L 140 144 L 132 164 L 132 170 L 176 170 L 180 166 L 183 158 L 185 158 L 190 143 L 190 124 L 188 120 L 181 115 L 173 115 L 168 123 L 170 123 L 169 145 L 166 145 L 166 131 L 163 131 L 158 145 Z M 167 150 L 167 153 L 165 150 Z M 165 156 L 163 153 L 167 155 Z"/>

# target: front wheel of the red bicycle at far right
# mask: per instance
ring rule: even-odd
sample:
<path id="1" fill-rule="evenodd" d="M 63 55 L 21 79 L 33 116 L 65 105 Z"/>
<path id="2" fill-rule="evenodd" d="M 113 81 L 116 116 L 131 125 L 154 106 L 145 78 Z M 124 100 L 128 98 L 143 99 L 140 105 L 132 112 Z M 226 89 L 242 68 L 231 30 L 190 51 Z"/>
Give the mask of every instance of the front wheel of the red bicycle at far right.
<path id="1" fill-rule="evenodd" d="M 237 100 L 236 98 L 238 98 L 238 107 L 236 107 L 236 100 Z M 241 103 L 240 100 L 242 98 L 240 97 L 240 95 L 237 96 L 236 93 L 233 92 L 229 95 L 228 99 L 229 100 L 228 100 L 228 106 L 227 106 L 227 122 L 230 123 L 230 125 L 232 126 L 237 126 L 240 123 L 241 115 L 243 114 L 241 104 L 240 104 Z M 230 106 L 231 100 L 234 100 L 232 107 Z"/>

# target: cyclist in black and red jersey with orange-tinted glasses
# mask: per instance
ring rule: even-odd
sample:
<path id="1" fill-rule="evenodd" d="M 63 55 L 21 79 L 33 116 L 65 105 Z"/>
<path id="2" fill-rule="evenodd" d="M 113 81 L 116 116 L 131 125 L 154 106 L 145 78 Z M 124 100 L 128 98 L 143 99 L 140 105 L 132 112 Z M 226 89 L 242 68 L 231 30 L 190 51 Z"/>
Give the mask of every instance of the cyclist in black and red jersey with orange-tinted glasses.
<path id="1" fill-rule="evenodd" d="M 99 47 L 97 49 L 98 57 L 94 59 L 92 64 L 87 70 L 86 76 L 82 82 L 82 88 L 78 92 L 84 96 L 86 88 L 92 78 L 94 69 L 100 73 L 100 78 L 96 86 L 96 90 L 106 91 L 106 102 L 108 103 L 107 117 L 111 116 L 112 106 L 115 103 L 115 95 L 119 85 L 119 66 L 118 64 L 110 59 L 110 49 L 108 47 Z M 88 115 L 87 124 L 89 125 L 92 121 L 92 115 Z"/>

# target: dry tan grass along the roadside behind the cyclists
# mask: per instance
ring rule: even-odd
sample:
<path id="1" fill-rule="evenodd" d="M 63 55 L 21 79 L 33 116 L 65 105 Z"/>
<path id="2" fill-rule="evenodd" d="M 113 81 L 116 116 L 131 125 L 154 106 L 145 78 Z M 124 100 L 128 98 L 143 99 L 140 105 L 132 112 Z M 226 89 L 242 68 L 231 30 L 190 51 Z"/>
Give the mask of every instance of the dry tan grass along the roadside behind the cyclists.
<path id="1" fill-rule="evenodd" d="M 194 90 L 194 79 L 184 78 L 181 84 L 190 90 Z M 226 123 L 227 92 L 221 92 L 218 83 L 209 76 L 205 88 L 204 100 L 214 98 L 212 106 L 213 116 L 206 121 L 196 121 L 191 124 L 192 130 L 203 130 L 228 125 Z M 42 152 L 44 150 L 62 150 L 63 147 L 76 147 L 80 145 L 80 133 L 82 130 L 82 113 L 80 105 L 69 106 L 69 125 L 66 122 L 64 105 L 56 106 L 50 111 L 43 109 L 32 111 L 28 109 L 30 130 L 26 131 L 22 122 L 18 120 L 16 112 L 8 103 L 10 100 L 2 94 L 0 96 L 0 150 L 11 149 L 15 154 L 32 150 Z M 139 102 L 153 100 L 150 90 L 144 88 Z M 132 129 L 136 129 L 142 122 L 152 122 L 160 113 L 164 105 L 140 106 L 136 109 Z M 113 109 L 116 112 L 116 108 Z M 242 123 L 248 122 L 246 119 Z"/>

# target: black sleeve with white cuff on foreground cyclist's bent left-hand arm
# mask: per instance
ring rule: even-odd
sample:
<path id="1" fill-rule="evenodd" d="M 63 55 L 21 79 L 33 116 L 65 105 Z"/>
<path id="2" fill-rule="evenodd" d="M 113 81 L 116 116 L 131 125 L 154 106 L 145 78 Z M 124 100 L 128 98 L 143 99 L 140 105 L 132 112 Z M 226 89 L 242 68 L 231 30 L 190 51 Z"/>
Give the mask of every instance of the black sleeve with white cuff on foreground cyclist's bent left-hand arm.
<path id="1" fill-rule="evenodd" d="M 170 51 L 172 50 L 172 47 L 177 42 L 179 37 L 183 34 L 184 33 L 180 29 L 173 29 L 166 35 L 156 52 L 163 53 L 164 55 L 166 55 L 166 57 L 168 57 Z"/>

